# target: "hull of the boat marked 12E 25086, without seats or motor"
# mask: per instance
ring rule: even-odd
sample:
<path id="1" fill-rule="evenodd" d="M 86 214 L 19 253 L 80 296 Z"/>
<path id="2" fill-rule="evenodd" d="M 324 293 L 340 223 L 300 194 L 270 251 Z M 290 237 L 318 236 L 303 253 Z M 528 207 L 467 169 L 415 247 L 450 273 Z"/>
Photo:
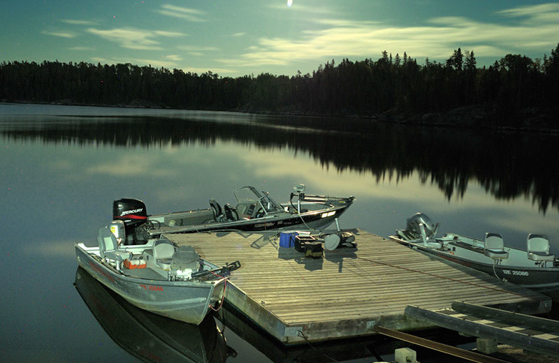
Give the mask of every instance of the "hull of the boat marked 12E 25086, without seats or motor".
<path id="1" fill-rule="evenodd" d="M 460 265 L 476 269 L 491 276 L 495 276 L 503 281 L 508 281 L 525 288 L 530 288 L 531 290 L 536 290 L 538 292 L 546 293 L 547 295 L 556 294 L 559 291 L 559 268 L 558 267 L 530 267 L 528 264 L 523 266 L 507 265 L 507 262 L 502 262 L 502 264 L 495 265 L 491 260 L 491 263 L 484 262 L 486 256 L 479 256 L 479 260 L 474 258 L 467 258 L 463 255 L 463 251 L 455 248 L 453 251 L 453 245 L 447 244 L 448 251 L 440 251 L 437 249 L 429 248 L 423 246 L 421 242 L 410 242 L 400 239 L 395 236 L 390 237 L 393 241 L 409 246 L 412 249 L 417 249 L 428 255 L 436 256 L 443 260 L 448 260 L 451 262 L 456 262 Z M 524 251 L 525 253 L 525 251 Z M 471 253 L 470 255 L 474 255 Z M 483 259 L 483 260 L 482 260 Z M 506 260 L 505 260 L 506 261 Z"/>

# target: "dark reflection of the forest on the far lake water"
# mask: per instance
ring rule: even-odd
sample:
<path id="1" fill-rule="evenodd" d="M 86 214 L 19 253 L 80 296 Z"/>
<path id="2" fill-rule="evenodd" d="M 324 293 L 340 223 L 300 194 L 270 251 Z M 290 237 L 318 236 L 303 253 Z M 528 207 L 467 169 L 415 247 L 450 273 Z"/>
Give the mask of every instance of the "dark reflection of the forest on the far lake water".
<path id="1" fill-rule="evenodd" d="M 234 115 L 234 114 L 233 114 Z M 229 115 L 231 117 L 231 114 Z M 157 117 L 98 117 L 3 124 L 4 140 L 38 140 L 78 146 L 162 147 L 213 145 L 217 140 L 257 149 L 308 153 L 324 168 L 372 173 L 396 182 L 419 173 L 447 198 L 461 198 L 468 182 L 479 182 L 498 199 L 530 198 L 542 212 L 558 208 L 559 136 L 474 133 L 453 128 L 411 128 L 346 120 L 240 116 L 243 121 Z M 235 117 L 231 117 L 234 120 Z M 248 120 L 248 121 L 247 121 Z M 318 128 L 320 127 L 320 128 Z"/>

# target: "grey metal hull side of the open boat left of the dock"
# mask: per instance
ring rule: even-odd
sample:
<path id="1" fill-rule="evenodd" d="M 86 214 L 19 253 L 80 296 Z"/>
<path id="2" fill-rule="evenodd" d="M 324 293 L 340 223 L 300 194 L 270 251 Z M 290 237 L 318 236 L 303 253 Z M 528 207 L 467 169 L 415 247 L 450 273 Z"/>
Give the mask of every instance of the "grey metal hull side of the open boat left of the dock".
<path id="1" fill-rule="evenodd" d="M 78 244 L 79 265 L 97 281 L 140 309 L 198 325 L 210 305 L 222 298 L 225 279 L 215 281 L 163 281 L 121 274 Z"/>

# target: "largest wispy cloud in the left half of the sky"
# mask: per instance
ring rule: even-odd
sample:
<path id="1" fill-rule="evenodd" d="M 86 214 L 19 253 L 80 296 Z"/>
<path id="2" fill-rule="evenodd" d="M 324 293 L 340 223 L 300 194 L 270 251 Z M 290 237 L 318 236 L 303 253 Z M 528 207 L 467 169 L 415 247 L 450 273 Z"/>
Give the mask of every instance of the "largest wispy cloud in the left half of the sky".
<path id="1" fill-rule="evenodd" d="M 184 34 L 174 31 L 152 31 L 136 28 L 115 28 L 107 30 L 89 28 L 87 32 L 132 50 L 161 50 L 157 38 L 184 36 Z"/>

